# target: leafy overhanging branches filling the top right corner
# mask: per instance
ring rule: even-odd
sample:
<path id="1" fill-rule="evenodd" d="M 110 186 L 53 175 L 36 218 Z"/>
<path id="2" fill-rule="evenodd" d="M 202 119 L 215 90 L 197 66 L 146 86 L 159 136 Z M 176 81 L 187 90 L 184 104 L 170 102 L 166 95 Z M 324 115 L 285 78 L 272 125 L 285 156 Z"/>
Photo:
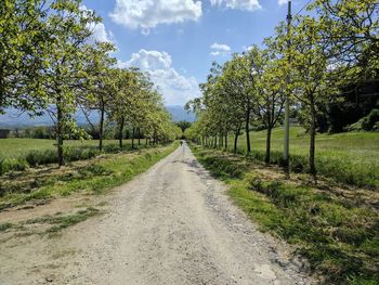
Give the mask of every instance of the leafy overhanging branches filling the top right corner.
<path id="1" fill-rule="evenodd" d="M 325 46 L 335 64 L 349 67 L 349 80 L 378 77 L 379 2 L 377 0 L 316 0 Z M 353 73 L 352 73 L 353 72 Z"/>

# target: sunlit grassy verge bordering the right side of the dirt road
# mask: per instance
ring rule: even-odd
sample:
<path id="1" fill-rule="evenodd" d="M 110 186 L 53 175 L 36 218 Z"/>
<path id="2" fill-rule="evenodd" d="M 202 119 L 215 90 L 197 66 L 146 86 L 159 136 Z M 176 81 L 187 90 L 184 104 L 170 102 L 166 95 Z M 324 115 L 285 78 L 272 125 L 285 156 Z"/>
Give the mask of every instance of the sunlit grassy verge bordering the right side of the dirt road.
<path id="1" fill-rule="evenodd" d="M 327 284 L 378 284 L 376 208 L 332 189 L 264 176 L 243 157 L 192 148 L 206 168 L 230 184 L 228 195 L 261 230 L 295 244 Z"/>

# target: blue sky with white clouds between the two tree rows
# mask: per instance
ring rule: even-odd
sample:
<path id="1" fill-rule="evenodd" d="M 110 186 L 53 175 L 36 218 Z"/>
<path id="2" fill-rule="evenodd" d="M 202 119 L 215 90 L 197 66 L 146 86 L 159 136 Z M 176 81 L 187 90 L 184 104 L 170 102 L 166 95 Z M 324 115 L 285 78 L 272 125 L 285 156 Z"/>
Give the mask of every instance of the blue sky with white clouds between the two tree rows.
<path id="1" fill-rule="evenodd" d="M 292 1 L 293 12 L 308 1 Z M 83 0 L 103 23 L 93 38 L 114 42 L 119 67 L 151 74 L 166 105 L 199 96 L 213 61 L 261 44 L 286 18 L 287 0 Z"/>

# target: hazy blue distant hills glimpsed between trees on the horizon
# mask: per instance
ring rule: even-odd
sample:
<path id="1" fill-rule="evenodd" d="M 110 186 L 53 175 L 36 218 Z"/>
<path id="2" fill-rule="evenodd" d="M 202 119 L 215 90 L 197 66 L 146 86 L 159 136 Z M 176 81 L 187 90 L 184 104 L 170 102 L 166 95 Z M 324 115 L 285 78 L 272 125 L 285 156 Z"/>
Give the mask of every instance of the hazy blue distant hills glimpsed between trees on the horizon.
<path id="1" fill-rule="evenodd" d="M 167 106 L 167 109 L 172 115 L 174 121 L 187 120 L 194 121 L 195 115 L 187 114 L 187 112 L 182 106 Z M 96 121 L 96 114 L 91 115 L 91 120 Z M 76 120 L 78 125 L 87 125 L 84 115 L 81 112 L 76 114 Z M 16 109 L 9 109 L 5 115 L 0 115 L 0 127 L 1 128 L 22 128 L 22 127 L 32 127 L 32 126 L 51 126 L 53 125 L 51 118 L 48 115 L 38 116 L 30 118 L 27 113 L 19 113 Z"/>

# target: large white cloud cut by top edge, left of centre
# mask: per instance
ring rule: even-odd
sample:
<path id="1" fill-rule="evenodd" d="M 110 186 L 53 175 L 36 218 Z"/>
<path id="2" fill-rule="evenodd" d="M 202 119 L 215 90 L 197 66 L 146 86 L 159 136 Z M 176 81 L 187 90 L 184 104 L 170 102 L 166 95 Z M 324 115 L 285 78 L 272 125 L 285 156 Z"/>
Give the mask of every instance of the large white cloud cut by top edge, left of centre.
<path id="1" fill-rule="evenodd" d="M 130 29 L 141 28 L 144 35 L 159 24 L 197 21 L 201 1 L 194 0 L 116 0 L 112 20 Z"/>

